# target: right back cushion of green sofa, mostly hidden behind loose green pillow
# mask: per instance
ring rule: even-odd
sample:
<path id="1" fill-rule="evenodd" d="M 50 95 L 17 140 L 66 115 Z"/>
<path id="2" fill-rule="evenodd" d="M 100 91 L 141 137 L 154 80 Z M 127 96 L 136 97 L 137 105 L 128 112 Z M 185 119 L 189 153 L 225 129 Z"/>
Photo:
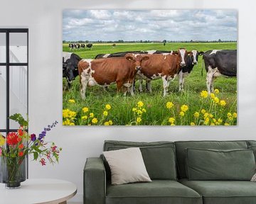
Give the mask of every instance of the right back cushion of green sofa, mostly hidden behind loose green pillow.
<path id="1" fill-rule="evenodd" d="M 178 176 L 186 178 L 185 158 L 187 148 L 198 149 L 247 149 L 246 141 L 181 141 L 175 142 Z"/>

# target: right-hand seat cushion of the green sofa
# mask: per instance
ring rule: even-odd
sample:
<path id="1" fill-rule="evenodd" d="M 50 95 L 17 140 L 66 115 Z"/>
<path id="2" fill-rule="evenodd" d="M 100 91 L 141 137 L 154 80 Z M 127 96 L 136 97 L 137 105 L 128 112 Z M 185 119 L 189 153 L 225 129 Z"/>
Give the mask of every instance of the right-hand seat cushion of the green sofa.
<path id="1" fill-rule="evenodd" d="M 179 180 L 203 196 L 204 204 L 256 203 L 256 183 L 251 181 L 188 181 Z"/>

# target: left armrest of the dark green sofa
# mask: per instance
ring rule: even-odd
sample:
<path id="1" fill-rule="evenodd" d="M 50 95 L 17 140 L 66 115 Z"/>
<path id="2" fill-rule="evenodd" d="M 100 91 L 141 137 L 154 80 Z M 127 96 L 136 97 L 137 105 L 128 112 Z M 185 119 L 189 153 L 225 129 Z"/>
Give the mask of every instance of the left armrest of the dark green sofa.
<path id="1" fill-rule="evenodd" d="M 106 171 L 102 159 L 87 158 L 83 179 L 84 204 L 105 204 Z"/>

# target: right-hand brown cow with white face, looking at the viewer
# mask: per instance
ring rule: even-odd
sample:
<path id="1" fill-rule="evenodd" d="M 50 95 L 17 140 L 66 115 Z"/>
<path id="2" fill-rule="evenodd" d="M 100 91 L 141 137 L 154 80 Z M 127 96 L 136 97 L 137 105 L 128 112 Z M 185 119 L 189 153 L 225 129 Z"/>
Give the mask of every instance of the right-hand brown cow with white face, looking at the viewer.
<path id="1" fill-rule="evenodd" d="M 148 55 L 149 60 L 142 62 L 142 69 L 137 75 L 149 84 L 149 92 L 151 92 L 151 80 L 162 79 L 164 96 L 166 96 L 170 81 L 175 79 L 182 67 L 186 66 L 187 55 L 188 52 L 184 48 L 179 49 L 178 52 Z"/>

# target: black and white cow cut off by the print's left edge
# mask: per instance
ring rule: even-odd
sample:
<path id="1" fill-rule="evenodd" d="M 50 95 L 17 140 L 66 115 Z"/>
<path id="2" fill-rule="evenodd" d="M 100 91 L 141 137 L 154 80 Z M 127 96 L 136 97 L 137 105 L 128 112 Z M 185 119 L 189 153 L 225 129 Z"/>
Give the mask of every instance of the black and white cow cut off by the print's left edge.
<path id="1" fill-rule="evenodd" d="M 63 77 L 67 79 L 65 89 L 70 88 L 70 83 L 77 77 L 78 62 L 82 60 L 78 55 L 71 52 L 63 52 Z"/>

